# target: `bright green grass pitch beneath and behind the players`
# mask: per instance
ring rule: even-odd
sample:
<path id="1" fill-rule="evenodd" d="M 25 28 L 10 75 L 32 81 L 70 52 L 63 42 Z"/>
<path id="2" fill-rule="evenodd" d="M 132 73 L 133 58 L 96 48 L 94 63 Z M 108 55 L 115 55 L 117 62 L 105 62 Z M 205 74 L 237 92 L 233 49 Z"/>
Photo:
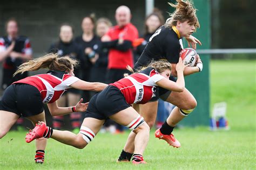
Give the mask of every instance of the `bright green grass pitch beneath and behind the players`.
<path id="1" fill-rule="evenodd" d="M 229 131 L 208 127 L 175 131 L 181 148 L 157 140 L 151 132 L 144 153 L 147 165 L 116 163 L 128 133 L 98 134 L 83 150 L 49 139 L 44 165 L 33 161 L 33 143 L 25 132 L 0 140 L 1 169 L 256 169 L 256 61 L 212 61 L 211 103 L 226 101 Z M 11 140 L 12 139 L 12 140 Z"/>

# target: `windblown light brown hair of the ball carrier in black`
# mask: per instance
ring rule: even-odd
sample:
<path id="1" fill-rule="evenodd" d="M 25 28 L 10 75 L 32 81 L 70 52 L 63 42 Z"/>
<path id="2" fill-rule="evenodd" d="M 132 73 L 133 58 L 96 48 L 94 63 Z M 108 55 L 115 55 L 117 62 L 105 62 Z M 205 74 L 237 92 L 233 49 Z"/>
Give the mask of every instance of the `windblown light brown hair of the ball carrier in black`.
<path id="1" fill-rule="evenodd" d="M 173 8 L 176 8 L 176 10 L 173 13 L 170 13 L 171 18 L 168 19 L 166 25 L 167 26 L 176 26 L 177 22 L 180 21 L 181 23 L 186 22 L 188 20 L 188 23 L 194 24 L 194 26 L 197 28 L 200 27 L 196 11 L 197 9 L 194 8 L 192 2 L 183 0 L 176 0 L 177 4 L 169 3 Z"/>

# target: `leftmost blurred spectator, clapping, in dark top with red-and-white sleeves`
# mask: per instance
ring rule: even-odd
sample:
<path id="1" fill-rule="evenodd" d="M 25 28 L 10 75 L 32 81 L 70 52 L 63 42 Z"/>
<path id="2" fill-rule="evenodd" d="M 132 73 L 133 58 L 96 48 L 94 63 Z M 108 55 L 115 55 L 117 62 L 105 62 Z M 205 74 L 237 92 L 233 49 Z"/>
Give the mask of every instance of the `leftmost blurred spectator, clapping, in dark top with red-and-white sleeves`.
<path id="1" fill-rule="evenodd" d="M 3 78 L 1 89 L 4 91 L 11 83 L 24 79 L 28 72 L 12 76 L 18 66 L 32 58 L 32 48 L 28 37 L 19 36 L 19 25 L 15 18 L 10 18 L 5 29 L 7 36 L 0 38 L 0 62 L 3 62 Z M 17 129 L 23 130 L 24 119 L 17 120 Z"/>

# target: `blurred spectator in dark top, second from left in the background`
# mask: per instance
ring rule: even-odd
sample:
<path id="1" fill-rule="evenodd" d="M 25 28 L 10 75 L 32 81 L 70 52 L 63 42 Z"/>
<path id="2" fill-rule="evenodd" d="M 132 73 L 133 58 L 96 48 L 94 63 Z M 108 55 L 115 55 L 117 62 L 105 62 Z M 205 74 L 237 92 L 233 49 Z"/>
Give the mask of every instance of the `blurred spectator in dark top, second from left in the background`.
<path id="1" fill-rule="evenodd" d="M 69 56 L 72 59 L 80 61 L 83 65 L 82 48 L 75 41 L 73 41 L 73 28 L 69 24 L 60 26 L 59 41 L 51 45 L 49 53 L 57 53 L 59 56 Z M 79 77 L 79 69 L 75 68 L 74 74 Z M 69 107 L 76 105 L 80 100 L 80 91 L 78 89 L 70 89 L 64 93 L 58 100 L 60 107 Z M 79 132 L 80 119 L 82 115 L 80 112 L 70 114 L 71 125 L 74 133 Z M 53 116 L 53 127 L 56 129 L 62 128 L 64 116 Z"/>

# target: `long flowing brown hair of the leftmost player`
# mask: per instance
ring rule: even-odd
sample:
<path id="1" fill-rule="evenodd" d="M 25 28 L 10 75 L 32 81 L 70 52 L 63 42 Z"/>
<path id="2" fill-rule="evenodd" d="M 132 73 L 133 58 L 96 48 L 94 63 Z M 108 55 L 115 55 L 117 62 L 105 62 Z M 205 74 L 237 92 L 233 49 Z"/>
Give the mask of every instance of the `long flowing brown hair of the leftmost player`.
<path id="1" fill-rule="evenodd" d="M 26 71 L 35 71 L 41 68 L 49 68 L 50 70 L 68 71 L 78 65 L 78 61 L 69 58 L 69 56 L 59 57 L 57 54 L 46 54 L 38 59 L 29 60 L 18 67 L 14 76 L 18 73 Z"/>

